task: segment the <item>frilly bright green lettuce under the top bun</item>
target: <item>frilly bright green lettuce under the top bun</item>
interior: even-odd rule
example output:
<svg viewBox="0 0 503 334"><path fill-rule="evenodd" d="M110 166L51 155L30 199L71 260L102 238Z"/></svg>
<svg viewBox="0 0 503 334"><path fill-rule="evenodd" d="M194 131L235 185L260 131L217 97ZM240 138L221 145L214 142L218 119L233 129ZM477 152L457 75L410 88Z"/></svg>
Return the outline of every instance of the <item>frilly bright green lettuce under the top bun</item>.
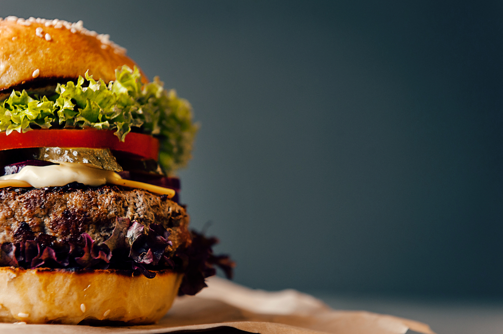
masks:
<svg viewBox="0 0 503 334"><path fill-rule="evenodd" d="M160 141L159 162L167 171L187 165L197 126L190 103L166 91L157 77L141 84L138 68L123 66L108 85L86 73L76 84L59 84L54 94L13 91L0 104L0 131L95 128L115 131L124 141L132 127Z"/></svg>

